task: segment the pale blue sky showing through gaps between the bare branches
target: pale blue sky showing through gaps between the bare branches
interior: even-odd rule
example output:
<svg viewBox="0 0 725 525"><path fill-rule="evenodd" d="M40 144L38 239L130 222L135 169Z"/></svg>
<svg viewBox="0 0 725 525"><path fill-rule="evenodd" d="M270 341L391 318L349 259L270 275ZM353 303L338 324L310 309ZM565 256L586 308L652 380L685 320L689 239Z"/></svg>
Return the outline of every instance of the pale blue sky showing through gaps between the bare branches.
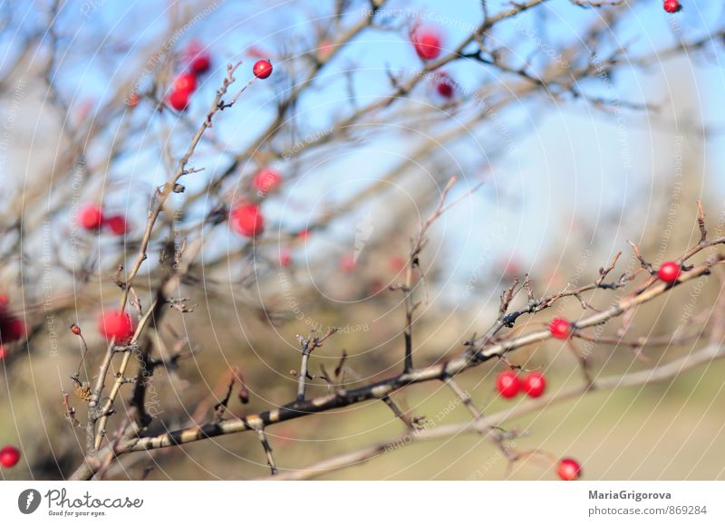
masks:
<svg viewBox="0 0 725 525"><path fill-rule="evenodd" d="M497 6L505 3L489 4L495 11ZM662 12L658 1L637 2L629 21L617 29L619 41L627 43L633 54L646 54L671 45L678 34L684 34L686 40L695 39L717 24L720 15L718 3L683 4L683 12L673 17ZM164 29L164 10L168 7L164 2L107 2L99 4L86 18L78 15L84 5L88 4L77 2L67 5L59 24L68 35L66 42L69 43L69 52L63 55L63 62L59 64L63 72L69 74L63 75L60 85L76 106L82 100L99 100L108 96L112 82L129 78L134 71L129 62L110 61L107 49L124 43L128 46L129 57L138 54L151 35ZM216 69L206 77L195 95L189 117L199 119L203 114L207 100L210 100L223 76L226 62L246 58L244 53L252 46L275 52L290 39L311 43L311 21L324 20L331 5L332 2L305 1L219 3L218 9L195 24L177 45L177 49L181 49L189 38L198 38L208 44L215 57ZM352 10L359 12L364 5L367 4L360 3ZM444 42L450 47L459 43L469 27L478 24L481 18L480 7L474 0L392 2L389 8L400 8L405 13L417 11L423 21L440 27L445 36ZM349 15L348 21L354 15L356 13ZM553 0L530 14L522 15L522 25L518 29L513 24L503 25L495 33L495 41L517 52L513 56L523 60L536 48L536 44L532 38L522 37L520 27L527 28L529 37L534 35L554 47L558 43L575 41L575 35L582 31L585 23L596 16L598 13L594 10L575 7L566 0ZM24 24L30 24L32 18L33 15L30 15ZM406 22L406 16L396 18L392 12L389 18L401 24ZM3 46L7 51L12 44L5 41ZM74 52L94 46L97 53L91 60L81 52ZM299 44L298 47L304 48L304 45ZM606 51L605 48L599 50L600 53ZM672 127L681 126L685 117L695 125L702 120L710 126L721 126L725 115L720 110L723 85L720 54L710 54L709 60L697 62L657 62L644 72L625 68L614 77L611 85L594 80L586 82L582 89L591 96L614 97L623 102L662 102L665 104L663 119L669 119ZM131 58L127 60L131 61ZM246 60L247 69L250 69L252 61ZM405 75L419 66L410 43L401 33L363 33L336 57L317 81L314 90L301 100L298 109L298 123L303 129L301 134L304 136L308 132L324 130L333 119L349 110L343 75L345 70L355 69L354 90L360 102L364 103L390 91L386 70ZM245 67L242 66L237 75L240 82L245 81L248 74ZM257 82L233 110L220 115L214 132L227 142L231 151L243 148L272 119L275 82L282 81L285 68L290 64L275 63L275 67L276 76L273 75L266 83ZM464 91L474 90L485 81L497 81L500 76L496 70L473 62L457 62L447 71ZM668 84L665 79L671 83ZM679 111L675 118L672 107L668 107L667 103L671 99L669 91L682 91L678 85L684 86L686 92L680 92L676 99L672 99ZM430 104L425 91L414 94L413 98ZM587 217L586 222L591 223L587 227L594 228L595 234L601 232L605 236L597 240L597 243L604 243L604 250L609 245L612 252L623 248L621 243L636 230L633 227L636 224L624 220L622 227L613 235L611 230L601 228L604 217L621 217L631 213L625 210L632 209L633 205L648 205L653 186L670 180L672 158L669 158L668 151L672 149L672 134L676 131L658 129L661 125L657 119L642 112L622 110L621 116L626 123L624 129L618 124L616 116L594 110L581 101L557 104L544 99L527 101L514 105L501 116L510 129L517 133L521 131L516 136L515 151L492 161L487 186L478 196L452 210L446 221L439 225L440 233L445 234L447 239L445 256L461 275L473 271L477 254L491 243L491 232L498 224L507 224L508 234L505 240L496 241L496 256L516 254L525 269L551 256L548 247L552 245L552 236L560 240L574 238L574 231L581 227L578 221L575 224L578 216ZM134 184L160 183L168 177L168 167L160 162L158 148L146 147L158 137L158 123L173 123L174 119L171 115L149 119L148 108L146 113L133 118L149 120L146 146L138 156L128 158L109 174L114 179L129 183L125 194L125 205L129 207L138 204L139 193L134 191ZM109 133L112 131L109 130ZM476 156L486 158L489 153L493 155L495 151L489 152L488 144L497 149L499 138L496 129L488 127L477 137L478 143L464 139L452 145L446 153L450 166L461 172L465 182L478 182L481 163ZM350 195L355 188L371 184L381 177L386 167L404 156L410 148L408 140L382 135L380 141L373 140L364 148L316 166L295 186L288 187L287 192L294 192L297 200L311 202L317 201L321 195L331 199ZM176 150L180 151L188 143L188 133L175 127L173 141L178 146ZM711 138L702 159L706 162L710 186L719 192L723 189L721 166L725 160L721 141L721 135ZM225 156L200 155L195 164L204 165L206 174L211 174L223 170L227 162ZM284 164L280 167L285 169ZM255 169L256 165L247 167L250 171ZM193 190L201 187L203 181L203 177L187 177L186 184L189 190ZM465 188L466 184L461 184L456 191L460 193ZM287 196L289 193L283 192L276 203L266 205L270 215L274 215L275 210L280 215L270 216L270 220L298 227L314 210L290 214L285 208L283 212ZM362 209L360 213L367 211ZM281 216L283 214L285 216ZM353 216L351 221L354 220ZM341 246L352 244L353 233L353 227L337 228L333 242ZM229 242L236 241L232 239Z"/></svg>

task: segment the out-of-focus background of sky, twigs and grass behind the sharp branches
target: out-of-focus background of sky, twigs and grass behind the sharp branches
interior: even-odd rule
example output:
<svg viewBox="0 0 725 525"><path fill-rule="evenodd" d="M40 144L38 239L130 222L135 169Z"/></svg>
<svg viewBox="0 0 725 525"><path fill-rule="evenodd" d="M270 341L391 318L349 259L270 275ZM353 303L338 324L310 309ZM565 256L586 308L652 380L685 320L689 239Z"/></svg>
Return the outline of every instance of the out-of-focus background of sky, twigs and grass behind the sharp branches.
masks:
<svg viewBox="0 0 725 525"><path fill-rule="evenodd" d="M115 282L136 258L155 189L189 148L228 63L242 62L230 94L251 82L199 142L190 166L200 171L184 176L183 193L165 205L134 282L132 297L148 307L168 265L160 254L203 241L178 301L149 336L158 358L184 352L150 382L153 433L213 419L232 367L250 401L233 396L227 416L291 401L296 336L313 329L340 331L314 350L311 374L334 369L343 352L347 387L399 372L405 310L403 294L390 287L402 282L411 239L453 175L449 199L465 198L433 224L415 276L419 367L459 355L496 320L501 292L525 274L543 297L593 282L620 250L614 277L637 268L627 241L655 266L677 258L700 239L698 199L710 235L723 234L720 3L683 1L668 14L655 0L599 8L551 0L515 15L504 15L511 3L483 4L399 0L381 3L374 16L377 4L355 0L0 4L0 293L26 327L24 338L3 341L0 444L22 452L13 470L0 469L3 479L60 479L82 462L83 428L69 425L63 408L82 356L69 327L77 323L88 343L80 378L91 381L106 348L99 312L118 305ZM485 14L500 20L477 33ZM420 28L440 38L440 66L416 53L411 34ZM169 93L190 49L211 65L189 109L175 111ZM259 59L274 72L252 81ZM265 168L282 183L260 193L254 177ZM264 234L249 239L227 226L228 208L240 201L258 203ZM85 231L79 213L88 205L122 215L128 228ZM691 338L643 355L596 345L594 377L699 348L720 291L716 273L637 311L627 327L630 339ZM596 291L592 304L613 299ZM582 315L571 298L522 317L514 330ZM552 394L582 382L561 341L510 359L545 371ZM494 377L504 368L488 362L459 379L485 414L519 402L496 394ZM517 448L575 456L587 479L723 479L723 374L725 364L713 362L656 385L547 406L507 428L521 434ZM111 429L131 390L121 390ZM308 392L328 387L317 378ZM454 396L437 383L395 399L433 426L469 419L462 406L449 407ZM84 422L84 402L72 402ZM370 402L267 433L285 470L404 430L387 406ZM107 477L267 473L257 436L243 433L131 454ZM467 434L401 446L322 477L556 473L542 455L508 468L496 446Z"/></svg>

